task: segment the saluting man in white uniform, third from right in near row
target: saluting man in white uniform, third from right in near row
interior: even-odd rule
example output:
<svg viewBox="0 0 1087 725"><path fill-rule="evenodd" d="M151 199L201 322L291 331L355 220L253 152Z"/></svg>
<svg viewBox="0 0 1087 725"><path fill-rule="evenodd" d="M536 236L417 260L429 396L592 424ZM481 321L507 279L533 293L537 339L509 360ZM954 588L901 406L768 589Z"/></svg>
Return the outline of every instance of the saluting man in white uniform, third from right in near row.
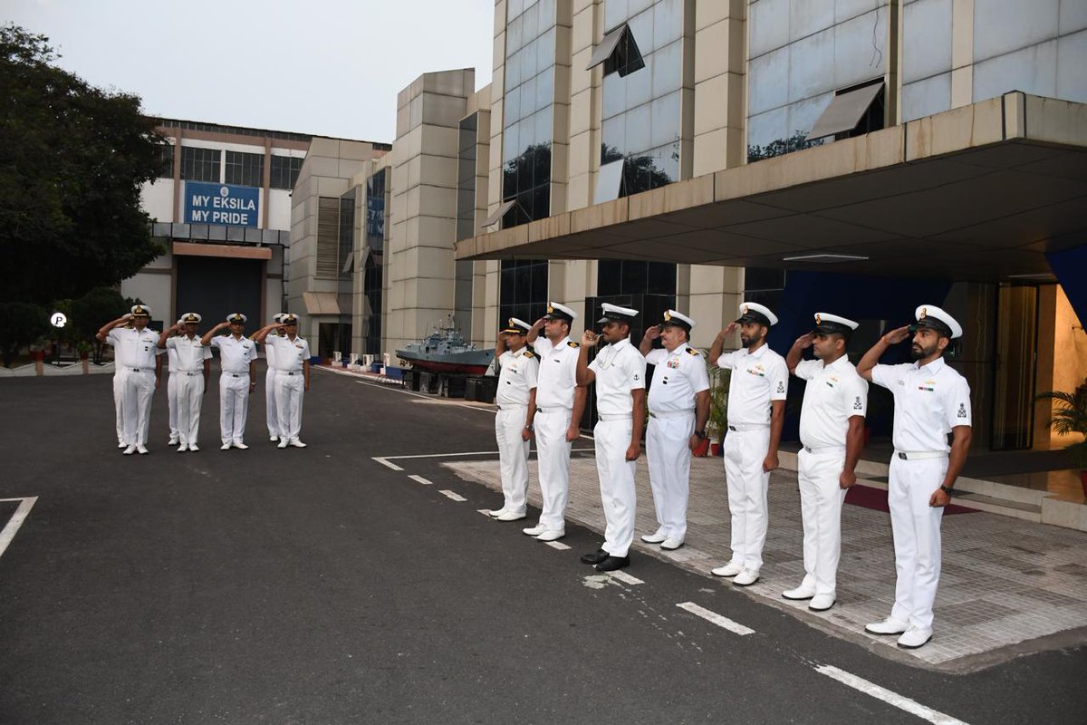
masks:
<svg viewBox="0 0 1087 725"><path fill-rule="evenodd" d="M747 587L759 580L766 543L766 489L777 467L777 446L785 422L789 368L770 349L766 335L777 324L769 308L740 304L740 316L717 333L710 360L732 371L728 380L728 433L725 435L725 478L732 514L732 560L713 570ZM740 328L739 350L722 353L725 339Z"/></svg>

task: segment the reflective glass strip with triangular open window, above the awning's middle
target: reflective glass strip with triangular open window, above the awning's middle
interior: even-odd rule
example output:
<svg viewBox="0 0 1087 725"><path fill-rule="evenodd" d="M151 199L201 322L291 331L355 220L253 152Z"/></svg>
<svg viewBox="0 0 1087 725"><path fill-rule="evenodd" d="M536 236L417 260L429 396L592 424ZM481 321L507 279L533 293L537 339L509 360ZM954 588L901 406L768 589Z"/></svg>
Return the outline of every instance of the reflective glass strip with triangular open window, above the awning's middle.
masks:
<svg viewBox="0 0 1087 725"><path fill-rule="evenodd" d="M604 3L605 29L628 27L632 70L621 74L605 67L600 163L626 159L622 188L627 195L679 179L683 10L683 0Z"/></svg>

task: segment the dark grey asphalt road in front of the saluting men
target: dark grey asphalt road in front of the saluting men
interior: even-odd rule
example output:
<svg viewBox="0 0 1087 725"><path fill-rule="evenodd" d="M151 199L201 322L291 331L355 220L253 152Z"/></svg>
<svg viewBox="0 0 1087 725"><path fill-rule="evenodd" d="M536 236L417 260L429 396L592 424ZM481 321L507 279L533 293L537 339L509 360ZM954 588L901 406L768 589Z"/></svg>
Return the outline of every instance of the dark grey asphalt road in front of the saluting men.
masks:
<svg viewBox="0 0 1087 725"><path fill-rule="evenodd" d="M825 666L975 725L1087 720L1083 648L948 675L637 553L641 584L595 576L592 532L557 550L440 457L373 460L493 451L491 413L317 372L278 450L260 379L249 450L213 384L202 450L166 447L160 390L142 457L109 376L0 380L0 499L38 497L0 555L0 723L925 722Z"/></svg>

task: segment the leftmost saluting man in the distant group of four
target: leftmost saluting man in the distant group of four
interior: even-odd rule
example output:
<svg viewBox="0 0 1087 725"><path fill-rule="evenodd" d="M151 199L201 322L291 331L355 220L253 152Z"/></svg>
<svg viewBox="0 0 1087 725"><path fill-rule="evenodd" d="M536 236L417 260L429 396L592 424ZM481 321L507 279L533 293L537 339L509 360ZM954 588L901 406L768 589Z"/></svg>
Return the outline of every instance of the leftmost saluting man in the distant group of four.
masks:
<svg viewBox="0 0 1087 725"><path fill-rule="evenodd" d="M122 388L125 418L124 454L147 454L147 433L151 423L151 397L162 378L159 334L147 328L151 308L134 304L132 312L107 323L96 336L99 342L113 346L116 365L126 368ZM123 327L132 323L132 327Z"/></svg>

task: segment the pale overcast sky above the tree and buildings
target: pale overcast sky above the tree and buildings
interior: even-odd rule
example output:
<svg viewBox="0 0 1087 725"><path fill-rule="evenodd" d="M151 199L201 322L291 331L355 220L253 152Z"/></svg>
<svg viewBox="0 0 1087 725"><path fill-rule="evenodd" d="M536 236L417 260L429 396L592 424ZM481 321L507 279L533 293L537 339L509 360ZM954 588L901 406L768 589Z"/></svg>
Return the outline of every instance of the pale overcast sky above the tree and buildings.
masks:
<svg viewBox="0 0 1087 725"><path fill-rule="evenodd" d="M490 83L493 0L3 0L59 63L147 113L392 141L423 73Z"/></svg>

